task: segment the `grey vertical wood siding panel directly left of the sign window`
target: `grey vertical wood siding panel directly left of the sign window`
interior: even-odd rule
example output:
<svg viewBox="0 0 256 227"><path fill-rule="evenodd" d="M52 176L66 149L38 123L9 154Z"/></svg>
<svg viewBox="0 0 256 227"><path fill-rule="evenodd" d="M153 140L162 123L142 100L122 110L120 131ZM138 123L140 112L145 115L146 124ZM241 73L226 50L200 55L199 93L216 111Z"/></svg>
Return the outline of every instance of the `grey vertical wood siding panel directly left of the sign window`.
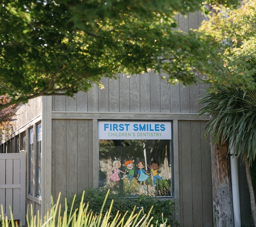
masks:
<svg viewBox="0 0 256 227"><path fill-rule="evenodd" d="M98 186L98 171L95 171L99 169L98 146L95 147L93 124L93 120L52 120L54 200L59 192L66 197L81 189Z"/></svg>

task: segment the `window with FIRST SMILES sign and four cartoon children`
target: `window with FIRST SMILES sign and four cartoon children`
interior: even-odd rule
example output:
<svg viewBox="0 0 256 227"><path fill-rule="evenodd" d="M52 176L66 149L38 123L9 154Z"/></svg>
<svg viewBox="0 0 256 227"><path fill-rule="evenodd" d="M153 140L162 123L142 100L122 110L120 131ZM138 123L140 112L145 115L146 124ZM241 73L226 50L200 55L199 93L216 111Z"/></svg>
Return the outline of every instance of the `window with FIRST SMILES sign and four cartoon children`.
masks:
<svg viewBox="0 0 256 227"><path fill-rule="evenodd" d="M172 196L171 122L99 122L99 185Z"/></svg>

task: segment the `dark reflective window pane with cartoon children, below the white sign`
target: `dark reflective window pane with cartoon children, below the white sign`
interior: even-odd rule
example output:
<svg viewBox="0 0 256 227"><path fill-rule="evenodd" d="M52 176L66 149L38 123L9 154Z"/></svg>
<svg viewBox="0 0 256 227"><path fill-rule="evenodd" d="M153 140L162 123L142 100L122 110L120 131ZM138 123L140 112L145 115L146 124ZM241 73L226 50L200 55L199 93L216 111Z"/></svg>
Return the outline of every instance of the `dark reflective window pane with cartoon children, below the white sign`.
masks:
<svg viewBox="0 0 256 227"><path fill-rule="evenodd" d="M172 196L171 140L99 140L100 187Z"/></svg>

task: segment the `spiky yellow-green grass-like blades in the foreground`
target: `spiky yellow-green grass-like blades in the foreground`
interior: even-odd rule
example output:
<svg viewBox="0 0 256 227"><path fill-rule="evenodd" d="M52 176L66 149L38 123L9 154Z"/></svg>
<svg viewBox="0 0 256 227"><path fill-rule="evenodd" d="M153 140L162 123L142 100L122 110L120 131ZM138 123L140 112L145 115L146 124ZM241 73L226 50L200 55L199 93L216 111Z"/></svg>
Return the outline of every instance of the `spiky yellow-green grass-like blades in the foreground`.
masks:
<svg viewBox="0 0 256 227"><path fill-rule="evenodd" d="M90 193L93 193L93 190L90 191ZM96 200L99 200L102 198L102 193L104 191L99 191L98 196L96 197ZM84 196L85 191L80 196L80 202L78 202L78 198L74 196L72 199L72 203L68 204L67 200L65 199L65 207L63 208L64 211L61 214L61 205L59 204L60 195L58 197L58 200L56 204L54 205L52 202L52 208L49 210L44 217L43 221L39 218L39 214L37 216L33 216L33 209L31 207L31 212L27 211L27 227L149 227L149 226L157 226L158 221L161 223L161 227L166 227L167 222L163 221L162 219L159 219L158 221L153 222L153 217L150 217L150 212L153 208L149 210L147 214L144 214L143 210L140 209L139 212L135 212L136 209L134 208L132 211L125 212L124 214L120 214L119 211L116 213L113 208L113 200L110 202L109 207L106 207L107 203L107 197L109 194L109 190L105 194L105 197L103 198L103 201L101 201L100 204L100 211L98 214L95 214L92 210L89 210L89 204L84 203ZM92 194L91 194L92 195ZM113 194L112 194L113 195ZM88 195L87 195L88 196ZM87 197L86 196L86 197ZM111 196L110 196L111 197ZM2 206L2 205L1 205ZM103 215L103 210L107 209L108 211L105 212L105 215ZM3 212L3 206L1 209L1 222L3 227L18 227L17 222L15 223L12 218L8 220L7 216L4 216ZM168 226L169 227L169 226Z"/></svg>

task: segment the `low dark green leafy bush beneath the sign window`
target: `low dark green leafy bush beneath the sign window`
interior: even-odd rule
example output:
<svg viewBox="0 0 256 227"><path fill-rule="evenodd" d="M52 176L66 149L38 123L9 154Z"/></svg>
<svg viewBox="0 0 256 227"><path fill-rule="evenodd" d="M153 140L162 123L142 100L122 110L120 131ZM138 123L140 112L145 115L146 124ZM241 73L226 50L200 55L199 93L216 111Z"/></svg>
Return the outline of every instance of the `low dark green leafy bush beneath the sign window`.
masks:
<svg viewBox="0 0 256 227"><path fill-rule="evenodd" d="M102 203L106 197L107 191L109 188L102 187L99 189L85 189L84 194L84 203L88 203L89 210L92 210L95 214L99 214L101 210ZM78 194L75 198L73 210L79 207L81 201L82 193ZM110 203L113 202L112 213L124 215L128 211L128 215L132 213L134 210L135 214L139 214L141 211L141 217L143 214L148 214L151 207L151 215L154 217L151 223L156 224L157 221L167 221L167 224L170 226L179 226L178 222L174 220L174 209L175 203L170 200L158 200L154 197L148 196L135 196L133 191L122 191L122 190L114 190L111 188L109 191L109 195L106 200L105 208L102 211L102 214L106 214ZM71 203L73 202L72 198L70 198L67 202L68 212L71 211ZM110 216L110 221L112 221L114 216ZM128 216L124 218L126 221ZM160 223L157 224L160 226Z"/></svg>

